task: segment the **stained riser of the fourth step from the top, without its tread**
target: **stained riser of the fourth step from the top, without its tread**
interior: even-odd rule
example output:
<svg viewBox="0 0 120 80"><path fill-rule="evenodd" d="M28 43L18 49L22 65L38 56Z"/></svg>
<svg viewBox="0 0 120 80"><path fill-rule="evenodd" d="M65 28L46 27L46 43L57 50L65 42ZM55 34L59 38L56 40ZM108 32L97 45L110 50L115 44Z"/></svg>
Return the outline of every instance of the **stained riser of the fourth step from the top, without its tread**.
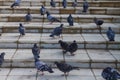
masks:
<svg viewBox="0 0 120 80"><path fill-rule="evenodd" d="M116 34L120 33L119 29L114 29ZM52 29L40 29L40 28L36 28L36 29L30 29L30 28L26 28L26 34L27 33L51 33L53 32L53 28ZM0 33L18 33L18 29L14 28L3 28L2 30L0 30ZM63 33L65 34L82 34L82 33L95 33L95 34L99 34L99 29L80 29L80 28L76 28L76 29L64 29ZM101 30L101 33L106 33L106 30Z"/></svg>

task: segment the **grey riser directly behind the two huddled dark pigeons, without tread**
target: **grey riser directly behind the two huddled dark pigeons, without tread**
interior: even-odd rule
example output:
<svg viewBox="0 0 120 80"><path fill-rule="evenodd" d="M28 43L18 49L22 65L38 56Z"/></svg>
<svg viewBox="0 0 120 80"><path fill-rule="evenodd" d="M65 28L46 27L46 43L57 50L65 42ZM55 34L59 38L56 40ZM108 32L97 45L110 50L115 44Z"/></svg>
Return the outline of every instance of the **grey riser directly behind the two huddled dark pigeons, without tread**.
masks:
<svg viewBox="0 0 120 80"><path fill-rule="evenodd" d="M33 44L36 42L31 43L0 43L1 49L31 49L33 47ZM61 49L60 45L58 43L45 43L42 42L40 44L41 49ZM94 42L81 42L78 43L79 49L120 49L120 43L94 43Z"/></svg>

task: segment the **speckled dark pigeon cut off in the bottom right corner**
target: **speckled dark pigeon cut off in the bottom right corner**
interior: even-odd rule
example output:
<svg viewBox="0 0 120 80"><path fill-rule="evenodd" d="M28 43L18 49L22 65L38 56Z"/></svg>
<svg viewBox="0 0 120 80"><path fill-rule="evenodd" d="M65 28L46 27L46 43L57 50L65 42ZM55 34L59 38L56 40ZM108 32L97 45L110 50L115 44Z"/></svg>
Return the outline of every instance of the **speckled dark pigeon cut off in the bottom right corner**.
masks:
<svg viewBox="0 0 120 80"><path fill-rule="evenodd" d="M120 79L120 73L112 67L106 67L102 71L101 76L106 80L118 80L118 79Z"/></svg>

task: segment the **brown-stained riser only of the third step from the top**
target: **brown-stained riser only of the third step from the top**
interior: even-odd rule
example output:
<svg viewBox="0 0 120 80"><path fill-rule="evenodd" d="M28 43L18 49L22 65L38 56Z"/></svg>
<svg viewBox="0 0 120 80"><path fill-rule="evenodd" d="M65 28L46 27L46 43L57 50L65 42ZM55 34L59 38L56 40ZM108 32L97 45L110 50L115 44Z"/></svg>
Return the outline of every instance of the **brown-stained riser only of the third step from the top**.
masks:
<svg viewBox="0 0 120 80"><path fill-rule="evenodd" d="M67 22L67 17L58 17L58 19L61 21L61 22ZM85 17L85 18L78 18L78 17L75 17L74 18L74 22L76 23L93 23L93 19L94 17L90 18L90 17ZM120 23L120 18L101 18L104 20L105 23ZM24 22L25 21L25 18L24 16L21 17L21 16L18 16L18 17L2 17L0 19L1 22ZM46 18L35 18L33 17L32 19L32 22L49 22Z"/></svg>

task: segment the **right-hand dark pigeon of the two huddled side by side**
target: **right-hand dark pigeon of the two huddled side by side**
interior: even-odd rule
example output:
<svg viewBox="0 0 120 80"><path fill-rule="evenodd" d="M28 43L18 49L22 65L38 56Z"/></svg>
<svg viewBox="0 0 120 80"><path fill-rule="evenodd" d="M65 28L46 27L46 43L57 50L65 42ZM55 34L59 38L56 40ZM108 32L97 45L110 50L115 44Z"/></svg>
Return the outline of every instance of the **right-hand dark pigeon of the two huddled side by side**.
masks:
<svg viewBox="0 0 120 80"><path fill-rule="evenodd" d="M73 43L71 43L71 44L68 46L67 50L66 50L64 53L70 52L70 54L71 54L72 56L74 56L74 55L75 55L74 52L77 51L77 49L78 49L78 45L77 45L76 41L74 40Z"/></svg>

